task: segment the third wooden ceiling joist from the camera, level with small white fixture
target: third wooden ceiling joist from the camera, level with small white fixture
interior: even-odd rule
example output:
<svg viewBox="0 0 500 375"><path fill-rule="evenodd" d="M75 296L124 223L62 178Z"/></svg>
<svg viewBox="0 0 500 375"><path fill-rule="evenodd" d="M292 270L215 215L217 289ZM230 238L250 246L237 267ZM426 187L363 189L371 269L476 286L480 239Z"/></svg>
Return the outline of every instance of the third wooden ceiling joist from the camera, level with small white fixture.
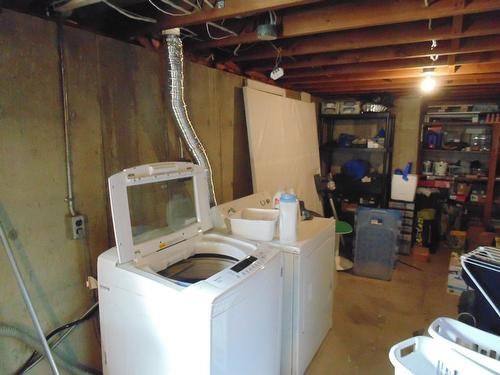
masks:
<svg viewBox="0 0 500 375"><path fill-rule="evenodd" d="M358 50L341 51L309 55L295 60L285 59L280 66L286 70L297 68L313 68L325 65L356 64L361 62L400 60L416 57L428 57L433 54L440 56L456 55L461 53L476 53L500 50L500 35L480 36L464 39L459 48L453 47L453 40L443 40L430 51L430 42L403 44L390 47L374 47ZM256 62L251 64L256 71L270 71L274 68L274 60Z"/></svg>

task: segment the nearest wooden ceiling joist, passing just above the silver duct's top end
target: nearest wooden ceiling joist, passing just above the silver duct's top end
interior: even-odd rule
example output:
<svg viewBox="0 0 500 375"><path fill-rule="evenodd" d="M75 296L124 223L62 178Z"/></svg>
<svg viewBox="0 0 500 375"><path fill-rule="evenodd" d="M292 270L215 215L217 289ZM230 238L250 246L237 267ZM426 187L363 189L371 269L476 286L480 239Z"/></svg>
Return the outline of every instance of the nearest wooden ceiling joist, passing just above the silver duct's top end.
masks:
<svg viewBox="0 0 500 375"><path fill-rule="evenodd" d="M195 25L205 22L214 22L226 18L234 18L237 16L248 16L256 13L267 12L268 10L278 10L288 7L295 7L300 5L308 5L317 3L320 0L228 0L225 2L224 8L210 8L203 7L199 11L180 17L172 17L160 14L159 12L151 11L151 14L156 18L156 24L144 27L144 25L137 26L128 30L128 34L144 35L147 33L158 34L162 30L172 29L175 27ZM154 13L153 13L154 12Z"/></svg>

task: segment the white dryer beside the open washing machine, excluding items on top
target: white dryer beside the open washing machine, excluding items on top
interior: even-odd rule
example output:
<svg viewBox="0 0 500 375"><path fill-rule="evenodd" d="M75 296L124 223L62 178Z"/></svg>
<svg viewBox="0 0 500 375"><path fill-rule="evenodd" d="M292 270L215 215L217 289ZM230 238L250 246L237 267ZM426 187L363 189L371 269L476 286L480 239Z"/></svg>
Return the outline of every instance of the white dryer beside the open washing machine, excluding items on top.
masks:
<svg viewBox="0 0 500 375"><path fill-rule="evenodd" d="M217 206L215 225L223 230L226 218L244 208L272 208L271 196L257 193ZM332 326L335 221L299 221L297 242L269 244L284 255L281 374L301 375Z"/></svg>

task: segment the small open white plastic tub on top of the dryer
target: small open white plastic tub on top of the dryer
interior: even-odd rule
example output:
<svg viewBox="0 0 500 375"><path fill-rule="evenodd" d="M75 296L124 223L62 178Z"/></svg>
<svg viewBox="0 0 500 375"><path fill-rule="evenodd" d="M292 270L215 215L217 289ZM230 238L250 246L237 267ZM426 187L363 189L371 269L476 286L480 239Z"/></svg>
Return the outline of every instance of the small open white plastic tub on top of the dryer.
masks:
<svg viewBox="0 0 500 375"><path fill-rule="evenodd" d="M272 241L279 211L245 208L229 217L231 232L254 241Z"/></svg>

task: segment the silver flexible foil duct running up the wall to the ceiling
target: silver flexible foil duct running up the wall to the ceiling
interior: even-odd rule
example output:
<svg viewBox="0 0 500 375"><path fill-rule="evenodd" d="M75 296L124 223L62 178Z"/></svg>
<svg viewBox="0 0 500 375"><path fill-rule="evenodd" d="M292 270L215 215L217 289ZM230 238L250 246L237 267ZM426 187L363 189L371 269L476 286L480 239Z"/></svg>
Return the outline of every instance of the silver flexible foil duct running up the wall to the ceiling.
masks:
<svg viewBox="0 0 500 375"><path fill-rule="evenodd" d="M165 30L162 35L167 48L168 88L170 91L170 106L172 108L173 117L177 124L177 129L186 143L194 162L204 167L208 172L210 207L213 207L217 205L217 200L215 198L212 167L208 161L205 148L191 124L191 120L187 113L186 103L184 102L182 40L178 33L175 31L172 32L172 30Z"/></svg>

